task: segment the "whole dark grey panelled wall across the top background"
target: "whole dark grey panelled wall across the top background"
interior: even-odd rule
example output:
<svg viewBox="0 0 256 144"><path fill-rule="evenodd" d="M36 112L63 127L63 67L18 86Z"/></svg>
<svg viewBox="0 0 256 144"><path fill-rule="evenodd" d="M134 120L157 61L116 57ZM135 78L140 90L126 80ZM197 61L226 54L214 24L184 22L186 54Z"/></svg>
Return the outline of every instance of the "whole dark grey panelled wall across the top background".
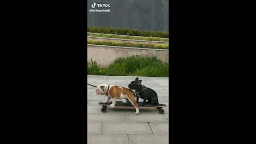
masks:
<svg viewBox="0 0 256 144"><path fill-rule="evenodd" d="M91 7L93 3L110 7ZM90 12L109 9L110 12ZM87 26L169 31L169 0L88 0Z"/></svg>

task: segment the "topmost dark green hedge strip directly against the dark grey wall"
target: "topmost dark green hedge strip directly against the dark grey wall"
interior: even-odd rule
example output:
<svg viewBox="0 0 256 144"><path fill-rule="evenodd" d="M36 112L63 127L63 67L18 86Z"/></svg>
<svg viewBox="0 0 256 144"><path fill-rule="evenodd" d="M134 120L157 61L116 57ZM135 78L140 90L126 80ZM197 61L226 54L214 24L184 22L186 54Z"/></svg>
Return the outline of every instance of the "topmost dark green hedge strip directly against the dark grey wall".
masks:
<svg viewBox="0 0 256 144"><path fill-rule="evenodd" d="M163 31L136 30L136 29L128 29L128 28L87 27L87 32L102 33L102 34L146 36L146 37L151 36L151 37L169 38L169 33L166 33Z"/></svg>

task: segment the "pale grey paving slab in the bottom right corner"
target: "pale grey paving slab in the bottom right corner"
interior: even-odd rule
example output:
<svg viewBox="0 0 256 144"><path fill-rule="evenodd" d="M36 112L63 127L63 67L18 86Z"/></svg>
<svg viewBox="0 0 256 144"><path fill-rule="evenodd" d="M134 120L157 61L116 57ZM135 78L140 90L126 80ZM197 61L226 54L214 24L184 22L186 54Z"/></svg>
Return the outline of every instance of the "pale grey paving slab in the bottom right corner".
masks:
<svg viewBox="0 0 256 144"><path fill-rule="evenodd" d="M129 134L129 144L169 144L169 134Z"/></svg>

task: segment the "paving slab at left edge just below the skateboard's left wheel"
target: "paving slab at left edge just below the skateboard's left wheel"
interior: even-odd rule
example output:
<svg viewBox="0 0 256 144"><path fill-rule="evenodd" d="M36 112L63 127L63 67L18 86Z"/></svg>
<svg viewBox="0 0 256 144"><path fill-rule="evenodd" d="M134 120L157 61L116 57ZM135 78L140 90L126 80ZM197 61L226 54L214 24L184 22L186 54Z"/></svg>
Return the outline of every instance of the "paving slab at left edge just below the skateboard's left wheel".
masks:
<svg viewBox="0 0 256 144"><path fill-rule="evenodd" d="M134 111L135 115L135 111ZM125 122L124 115L110 113L87 114L87 122Z"/></svg>

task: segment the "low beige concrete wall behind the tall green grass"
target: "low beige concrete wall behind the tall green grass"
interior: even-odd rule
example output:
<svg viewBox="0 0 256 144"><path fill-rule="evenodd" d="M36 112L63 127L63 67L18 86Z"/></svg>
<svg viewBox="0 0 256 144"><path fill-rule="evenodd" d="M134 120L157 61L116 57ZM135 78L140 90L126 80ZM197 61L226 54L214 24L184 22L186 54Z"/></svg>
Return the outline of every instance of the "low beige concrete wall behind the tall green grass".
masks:
<svg viewBox="0 0 256 144"><path fill-rule="evenodd" d="M101 68L107 68L115 59L132 55L152 56L169 63L169 50L143 49L118 46L100 46L87 44L87 61L96 61Z"/></svg>

